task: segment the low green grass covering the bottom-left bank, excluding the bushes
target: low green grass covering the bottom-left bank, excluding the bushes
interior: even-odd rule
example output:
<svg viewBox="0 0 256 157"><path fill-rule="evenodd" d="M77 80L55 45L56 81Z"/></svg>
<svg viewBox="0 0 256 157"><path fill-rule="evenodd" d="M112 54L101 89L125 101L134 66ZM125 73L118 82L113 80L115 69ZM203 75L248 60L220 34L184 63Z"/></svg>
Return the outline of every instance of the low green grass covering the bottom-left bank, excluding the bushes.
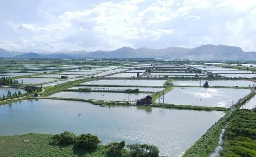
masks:
<svg viewBox="0 0 256 157"><path fill-rule="evenodd" d="M96 151L88 152L73 149L73 145L52 143L49 134L24 134L18 136L0 136L0 157L107 157L104 145ZM29 140L24 142L24 140ZM129 156L123 151L122 157Z"/></svg>

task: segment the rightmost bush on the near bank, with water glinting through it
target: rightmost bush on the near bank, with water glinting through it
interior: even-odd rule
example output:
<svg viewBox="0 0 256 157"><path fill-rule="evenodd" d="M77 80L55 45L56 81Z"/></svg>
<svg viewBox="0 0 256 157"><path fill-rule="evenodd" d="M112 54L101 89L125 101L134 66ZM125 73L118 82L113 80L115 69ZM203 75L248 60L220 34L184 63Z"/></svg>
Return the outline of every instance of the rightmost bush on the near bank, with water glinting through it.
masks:
<svg viewBox="0 0 256 157"><path fill-rule="evenodd" d="M159 149L154 145L132 144L127 145L133 157L159 157Z"/></svg>

